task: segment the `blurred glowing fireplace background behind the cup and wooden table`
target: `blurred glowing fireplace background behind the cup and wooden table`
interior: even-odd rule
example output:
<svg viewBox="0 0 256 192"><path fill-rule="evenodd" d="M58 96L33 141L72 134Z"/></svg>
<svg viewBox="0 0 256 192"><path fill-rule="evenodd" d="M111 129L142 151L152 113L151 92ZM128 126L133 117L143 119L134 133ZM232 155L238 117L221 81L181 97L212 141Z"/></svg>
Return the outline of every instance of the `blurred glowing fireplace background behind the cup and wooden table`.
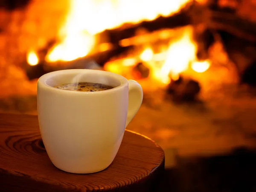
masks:
<svg viewBox="0 0 256 192"><path fill-rule="evenodd" d="M0 112L37 114L36 82L51 71L118 73L143 87L128 129L164 149L168 174L179 173L168 179L186 183L172 186L256 191L255 9L255 0L0 0Z"/></svg>

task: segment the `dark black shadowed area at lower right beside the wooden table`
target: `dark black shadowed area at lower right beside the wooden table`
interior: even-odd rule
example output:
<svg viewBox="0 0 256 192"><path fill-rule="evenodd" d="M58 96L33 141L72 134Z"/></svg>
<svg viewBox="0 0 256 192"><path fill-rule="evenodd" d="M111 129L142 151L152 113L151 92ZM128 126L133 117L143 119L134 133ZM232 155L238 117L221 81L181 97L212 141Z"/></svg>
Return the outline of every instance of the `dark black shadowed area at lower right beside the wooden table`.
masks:
<svg viewBox="0 0 256 192"><path fill-rule="evenodd" d="M256 150L240 150L215 157L179 157L166 169L157 192L255 192Z"/></svg>

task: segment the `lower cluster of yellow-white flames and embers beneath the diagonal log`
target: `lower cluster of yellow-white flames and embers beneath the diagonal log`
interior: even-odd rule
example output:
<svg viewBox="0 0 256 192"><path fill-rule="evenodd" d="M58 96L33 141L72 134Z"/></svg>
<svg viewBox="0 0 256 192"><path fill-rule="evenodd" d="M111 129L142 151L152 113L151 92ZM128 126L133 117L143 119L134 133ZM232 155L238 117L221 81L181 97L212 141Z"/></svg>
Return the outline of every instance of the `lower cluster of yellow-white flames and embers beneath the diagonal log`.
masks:
<svg viewBox="0 0 256 192"><path fill-rule="evenodd" d="M150 69L148 78L160 81L162 84L168 84L171 79L178 79L180 73L189 69L189 64L195 72L206 71L210 67L210 61L197 61L197 46L193 41L192 26L184 27L183 32L179 30L177 33L180 36L170 41L169 47L163 52L154 53L151 47L147 47L129 65L124 64L126 59L110 61L105 64L105 70L126 75L129 70L125 67L134 67L141 61Z"/></svg>

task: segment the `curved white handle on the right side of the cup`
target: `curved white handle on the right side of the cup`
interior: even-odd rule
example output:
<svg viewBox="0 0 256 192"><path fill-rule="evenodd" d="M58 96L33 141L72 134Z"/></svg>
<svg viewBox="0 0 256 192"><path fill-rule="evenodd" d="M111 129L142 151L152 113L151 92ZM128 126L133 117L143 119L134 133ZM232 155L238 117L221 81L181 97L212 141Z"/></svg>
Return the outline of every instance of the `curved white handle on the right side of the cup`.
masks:
<svg viewBox="0 0 256 192"><path fill-rule="evenodd" d="M128 96L128 113L125 127L131 122L136 113L140 109L143 100L143 90L140 84L134 80L128 80L129 96Z"/></svg>

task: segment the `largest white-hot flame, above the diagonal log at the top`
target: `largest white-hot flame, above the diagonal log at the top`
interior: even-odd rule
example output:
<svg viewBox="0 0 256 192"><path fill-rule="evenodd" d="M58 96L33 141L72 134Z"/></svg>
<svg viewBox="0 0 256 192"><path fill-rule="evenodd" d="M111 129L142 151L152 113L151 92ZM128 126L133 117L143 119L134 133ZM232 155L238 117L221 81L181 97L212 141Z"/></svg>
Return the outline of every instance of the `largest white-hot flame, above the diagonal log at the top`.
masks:
<svg viewBox="0 0 256 192"><path fill-rule="evenodd" d="M139 23L169 16L191 0L70 0L70 12L48 62L71 61L86 56L94 46L96 33L124 23ZM145 9L146 6L146 9Z"/></svg>

